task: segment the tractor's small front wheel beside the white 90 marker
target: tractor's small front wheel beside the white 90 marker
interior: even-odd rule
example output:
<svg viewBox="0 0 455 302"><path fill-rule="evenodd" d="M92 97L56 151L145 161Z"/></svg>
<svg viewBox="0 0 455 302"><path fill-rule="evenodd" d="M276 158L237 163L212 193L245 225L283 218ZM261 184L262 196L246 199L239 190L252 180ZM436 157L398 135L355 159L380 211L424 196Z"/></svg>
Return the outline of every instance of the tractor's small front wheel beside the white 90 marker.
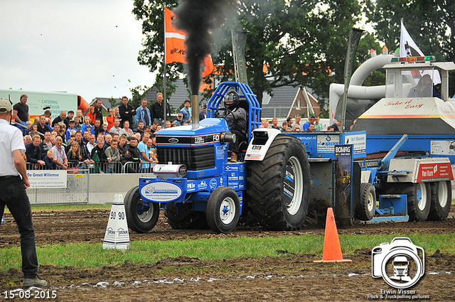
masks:
<svg viewBox="0 0 455 302"><path fill-rule="evenodd" d="M148 210L144 208L144 200L139 193L139 185L128 191L124 199L125 214L129 229L138 233L152 230L159 218L159 204L149 203Z"/></svg>

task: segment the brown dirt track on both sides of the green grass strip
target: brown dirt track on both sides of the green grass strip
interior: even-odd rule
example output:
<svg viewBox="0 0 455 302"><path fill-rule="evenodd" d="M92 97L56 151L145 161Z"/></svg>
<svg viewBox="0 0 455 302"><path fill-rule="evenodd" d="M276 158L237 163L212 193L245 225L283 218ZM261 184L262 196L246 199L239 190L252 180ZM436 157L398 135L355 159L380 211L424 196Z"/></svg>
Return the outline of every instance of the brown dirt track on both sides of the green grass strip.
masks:
<svg viewBox="0 0 455 302"><path fill-rule="evenodd" d="M454 207L452 207L452 212ZM453 213L451 213L453 216ZM33 215L37 245L68 242L102 242L109 211L41 212ZM452 217L451 216L451 217ZM0 227L0 247L18 246L17 227L6 215ZM321 234L321 219L294 232L264 232L240 225L232 234L210 230L172 230L161 215L158 225L147 234L130 233L134 240L198 239L208 237L267 237ZM338 228L340 234L444 234L455 232L455 219L444 222L382 223ZM156 264L124 263L122 266L75 269L43 265L40 274L50 282L58 301L365 301L367 295L391 290L382 279L371 276L368 250L350 254L350 264L314 264L314 255L201 261L188 257L163 259ZM423 279L412 288L429 295L430 301L453 299L455 255L427 255ZM202 273L168 275L167 266L195 266ZM451 274L446 273L450 271ZM429 274L437 273L437 274ZM350 275L355 274L355 275ZM21 271L0 273L1 291L18 288ZM12 281L12 284L9 283ZM106 281L107 284L99 284ZM4 298L4 297L0 297ZM414 300L415 301L415 300Z"/></svg>

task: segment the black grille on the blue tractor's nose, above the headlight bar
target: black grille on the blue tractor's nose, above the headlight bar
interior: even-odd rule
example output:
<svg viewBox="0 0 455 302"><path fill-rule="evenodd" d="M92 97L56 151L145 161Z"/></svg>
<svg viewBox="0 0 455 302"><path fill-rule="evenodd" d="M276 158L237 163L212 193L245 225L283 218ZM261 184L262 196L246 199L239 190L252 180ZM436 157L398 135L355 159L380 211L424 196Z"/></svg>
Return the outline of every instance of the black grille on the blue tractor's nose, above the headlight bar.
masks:
<svg viewBox="0 0 455 302"><path fill-rule="evenodd" d="M157 148L159 163L184 164L188 171L215 168L215 149L213 145L193 148L163 147Z"/></svg>

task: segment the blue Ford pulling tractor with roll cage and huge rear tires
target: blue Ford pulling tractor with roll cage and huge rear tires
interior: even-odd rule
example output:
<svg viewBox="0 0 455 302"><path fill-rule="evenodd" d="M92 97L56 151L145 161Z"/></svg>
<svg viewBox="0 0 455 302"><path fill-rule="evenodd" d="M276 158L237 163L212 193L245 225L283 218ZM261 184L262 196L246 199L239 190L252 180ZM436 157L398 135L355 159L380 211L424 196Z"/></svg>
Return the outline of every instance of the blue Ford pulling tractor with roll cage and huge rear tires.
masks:
<svg viewBox="0 0 455 302"><path fill-rule="evenodd" d="M229 144L236 138L223 117L224 96L234 90L247 112L247 143L240 161L230 163ZM192 97L193 124L156 133L159 163L155 178L140 178L124 198L128 226L149 232L164 209L174 229L210 227L228 233L240 215L250 212L267 230L298 230L309 206L309 163L301 140L276 129L260 129L260 107L248 85L223 82L208 102L208 118L198 121Z"/></svg>

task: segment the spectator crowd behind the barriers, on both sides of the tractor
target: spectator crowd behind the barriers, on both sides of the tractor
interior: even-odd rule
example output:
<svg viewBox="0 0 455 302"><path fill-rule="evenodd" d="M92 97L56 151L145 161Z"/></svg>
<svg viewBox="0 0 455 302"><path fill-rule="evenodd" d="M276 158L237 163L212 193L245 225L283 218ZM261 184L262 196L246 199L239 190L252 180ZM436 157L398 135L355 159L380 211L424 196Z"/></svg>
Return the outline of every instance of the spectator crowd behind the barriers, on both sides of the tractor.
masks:
<svg viewBox="0 0 455 302"><path fill-rule="evenodd" d="M77 109L62 111L52 119L50 110L40 117L30 119L27 95L14 104L13 114L18 128L23 131L26 144L24 160L28 169L83 169L92 173L138 173L148 172L158 163L155 133L163 127L191 124L191 102L186 100L183 108L171 122L164 119L163 95L147 107L147 99L134 109L127 97L122 97L119 107L109 110L103 119L102 102L97 99L86 112ZM202 107L199 119L207 117ZM261 128L280 131L338 131L340 122L324 129L319 117L311 116L302 123L301 117L288 117L278 126L278 119L262 119Z"/></svg>

